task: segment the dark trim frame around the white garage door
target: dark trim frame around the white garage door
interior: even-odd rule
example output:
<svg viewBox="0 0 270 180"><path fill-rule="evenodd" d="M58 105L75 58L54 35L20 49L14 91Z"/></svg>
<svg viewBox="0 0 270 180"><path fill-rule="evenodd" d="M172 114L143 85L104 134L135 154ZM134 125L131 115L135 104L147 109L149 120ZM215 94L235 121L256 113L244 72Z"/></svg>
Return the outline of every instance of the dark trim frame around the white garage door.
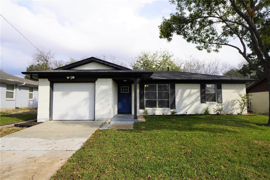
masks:
<svg viewBox="0 0 270 180"><path fill-rule="evenodd" d="M83 82L50 82L50 101L49 101L49 121L95 121L96 113L96 82L84 82L84 83L95 83L95 97L94 97L94 119L89 120L53 120L53 85L54 83L83 83Z"/></svg>

